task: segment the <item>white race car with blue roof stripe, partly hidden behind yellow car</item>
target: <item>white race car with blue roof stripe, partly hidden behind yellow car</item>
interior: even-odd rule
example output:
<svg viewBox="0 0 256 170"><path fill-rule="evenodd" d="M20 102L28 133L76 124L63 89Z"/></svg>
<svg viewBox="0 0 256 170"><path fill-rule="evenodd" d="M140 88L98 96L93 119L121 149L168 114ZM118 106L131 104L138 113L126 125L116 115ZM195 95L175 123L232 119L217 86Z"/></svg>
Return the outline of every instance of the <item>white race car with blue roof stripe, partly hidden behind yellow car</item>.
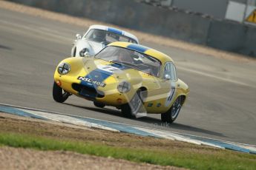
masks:
<svg viewBox="0 0 256 170"><path fill-rule="evenodd" d="M95 55L106 45L115 41L131 42L139 44L138 38L123 30L103 25L92 25L85 35L76 34L76 40L73 43L71 56L84 57L85 55Z"/></svg>

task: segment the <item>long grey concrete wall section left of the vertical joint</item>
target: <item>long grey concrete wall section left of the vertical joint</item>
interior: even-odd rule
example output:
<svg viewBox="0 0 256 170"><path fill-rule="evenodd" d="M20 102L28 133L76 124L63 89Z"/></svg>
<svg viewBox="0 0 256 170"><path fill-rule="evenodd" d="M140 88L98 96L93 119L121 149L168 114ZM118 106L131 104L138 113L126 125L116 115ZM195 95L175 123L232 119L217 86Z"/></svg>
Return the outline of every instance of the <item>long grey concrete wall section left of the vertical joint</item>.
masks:
<svg viewBox="0 0 256 170"><path fill-rule="evenodd" d="M131 0L10 0L147 33L206 44L209 19ZM99 6L100 5L100 6Z"/></svg>

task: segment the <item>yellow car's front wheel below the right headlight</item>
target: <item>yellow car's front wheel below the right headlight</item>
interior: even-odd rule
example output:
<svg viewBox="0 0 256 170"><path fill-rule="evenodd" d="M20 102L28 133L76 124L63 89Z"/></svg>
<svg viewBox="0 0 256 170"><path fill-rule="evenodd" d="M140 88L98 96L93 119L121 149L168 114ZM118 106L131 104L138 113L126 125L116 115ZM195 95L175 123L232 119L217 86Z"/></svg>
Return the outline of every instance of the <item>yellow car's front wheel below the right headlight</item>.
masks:
<svg viewBox="0 0 256 170"><path fill-rule="evenodd" d="M129 103L122 105L122 115L126 118L135 118L142 106L141 90L139 89Z"/></svg>

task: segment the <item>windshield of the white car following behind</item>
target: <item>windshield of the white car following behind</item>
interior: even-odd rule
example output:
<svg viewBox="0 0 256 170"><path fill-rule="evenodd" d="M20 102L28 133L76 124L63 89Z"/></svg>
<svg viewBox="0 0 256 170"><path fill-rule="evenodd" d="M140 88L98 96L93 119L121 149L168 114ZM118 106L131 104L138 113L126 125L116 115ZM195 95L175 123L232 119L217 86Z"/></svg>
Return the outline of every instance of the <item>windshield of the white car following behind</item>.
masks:
<svg viewBox="0 0 256 170"><path fill-rule="evenodd" d="M98 29L90 30L85 35L85 39L88 39L90 41L101 42L104 44L110 44L116 41L124 41L124 42L131 42L131 43L137 44L137 41L135 41L133 38L129 38L125 35L112 33L106 30L98 30Z"/></svg>

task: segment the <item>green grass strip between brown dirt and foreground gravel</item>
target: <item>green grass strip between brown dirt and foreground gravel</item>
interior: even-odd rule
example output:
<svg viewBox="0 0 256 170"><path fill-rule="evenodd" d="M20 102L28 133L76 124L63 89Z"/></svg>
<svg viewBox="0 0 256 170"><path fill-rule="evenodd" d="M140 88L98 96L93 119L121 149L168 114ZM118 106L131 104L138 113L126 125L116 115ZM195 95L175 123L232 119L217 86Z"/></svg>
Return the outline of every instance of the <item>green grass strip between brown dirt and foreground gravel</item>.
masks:
<svg viewBox="0 0 256 170"><path fill-rule="evenodd" d="M57 140L16 133L0 133L0 146L22 147L39 150L62 150L92 154L101 157L114 157L138 163L151 163L161 166L177 166L187 169L252 169L256 168L256 155L230 151L194 152L135 149L114 147L75 140Z"/></svg>

